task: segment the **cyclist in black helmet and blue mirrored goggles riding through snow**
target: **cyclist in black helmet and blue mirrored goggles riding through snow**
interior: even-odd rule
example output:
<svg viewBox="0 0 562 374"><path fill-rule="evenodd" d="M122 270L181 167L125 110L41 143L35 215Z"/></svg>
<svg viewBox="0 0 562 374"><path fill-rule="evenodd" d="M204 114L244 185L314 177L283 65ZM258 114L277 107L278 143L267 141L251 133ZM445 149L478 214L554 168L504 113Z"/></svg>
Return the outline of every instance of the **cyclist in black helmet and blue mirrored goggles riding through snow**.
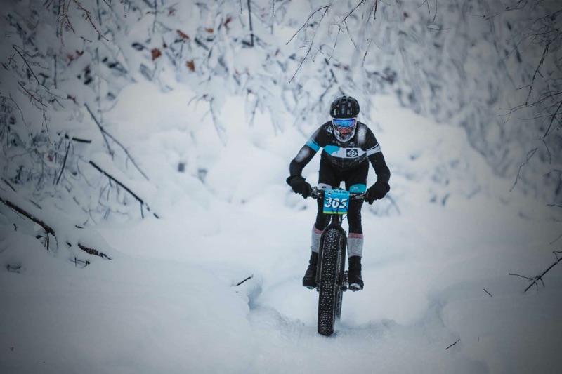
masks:
<svg viewBox="0 0 562 374"><path fill-rule="evenodd" d="M384 198L390 190L388 180L391 171L386 166L381 147L373 132L365 123L359 122L359 103L351 96L336 98L329 109L332 121L318 128L289 165L287 184L303 198L311 196L312 187L302 176L303 168L322 148L318 188L332 189L345 182L350 192L365 192L364 200L372 204ZM377 174L377 182L367 189L369 163ZM329 224L329 215L322 213L322 201L318 201L318 213L312 229L311 258L303 277L303 286L316 287L316 267L320 236ZM351 290L362 290L361 258L363 251L363 230L361 225L362 200L353 200L348 206L348 283Z"/></svg>

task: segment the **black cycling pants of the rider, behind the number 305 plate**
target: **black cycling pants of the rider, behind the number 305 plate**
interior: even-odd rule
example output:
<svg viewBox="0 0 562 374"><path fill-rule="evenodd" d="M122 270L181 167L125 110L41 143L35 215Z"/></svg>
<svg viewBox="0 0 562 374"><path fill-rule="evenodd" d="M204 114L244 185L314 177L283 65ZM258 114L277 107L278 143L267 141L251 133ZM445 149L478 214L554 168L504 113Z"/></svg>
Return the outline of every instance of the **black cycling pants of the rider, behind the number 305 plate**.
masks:
<svg viewBox="0 0 562 374"><path fill-rule="evenodd" d="M318 171L318 185L325 188L339 187L341 182L345 182L346 189L353 185L367 185L367 173L369 172L369 162L365 161L357 168L346 171L339 171L332 164L322 157L320 159L320 170ZM327 186L329 187L327 187ZM330 216L322 213L323 201L318 199L318 213L316 214L316 222L314 226L316 229L322 231L329 224ZM347 221L349 224L349 232L355 234L362 234L363 229L361 226L361 207L363 200L351 200L348 206Z"/></svg>

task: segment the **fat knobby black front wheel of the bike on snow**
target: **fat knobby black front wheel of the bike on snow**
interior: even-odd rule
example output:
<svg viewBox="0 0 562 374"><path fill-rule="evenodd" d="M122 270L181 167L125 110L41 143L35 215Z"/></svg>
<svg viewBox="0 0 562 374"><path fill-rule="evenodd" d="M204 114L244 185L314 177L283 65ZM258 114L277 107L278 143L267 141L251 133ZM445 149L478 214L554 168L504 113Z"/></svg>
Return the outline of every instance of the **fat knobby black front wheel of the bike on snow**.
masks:
<svg viewBox="0 0 562 374"><path fill-rule="evenodd" d="M336 228L327 228L322 237L320 279L318 288L318 333L332 335L336 317L341 311L341 261L344 234Z"/></svg>

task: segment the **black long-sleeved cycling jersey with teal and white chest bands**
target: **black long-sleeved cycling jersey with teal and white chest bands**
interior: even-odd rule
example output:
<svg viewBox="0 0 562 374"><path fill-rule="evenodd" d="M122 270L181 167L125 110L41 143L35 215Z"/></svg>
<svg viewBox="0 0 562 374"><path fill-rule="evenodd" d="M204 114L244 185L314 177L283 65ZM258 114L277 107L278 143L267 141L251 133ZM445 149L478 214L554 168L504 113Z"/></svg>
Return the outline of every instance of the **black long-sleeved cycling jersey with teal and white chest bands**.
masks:
<svg viewBox="0 0 562 374"><path fill-rule="evenodd" d="M381 146L365 123L358 121L355 135L347 142L336 139L332 121L324 123L311 135L299 154L291 161L290 175L302 175L303 168L320 148L322 148L322 159L329 161L338 171L348 171L370 162L377 174L377 180L388 183L391 178L391 171L386 166Z"/></svg>

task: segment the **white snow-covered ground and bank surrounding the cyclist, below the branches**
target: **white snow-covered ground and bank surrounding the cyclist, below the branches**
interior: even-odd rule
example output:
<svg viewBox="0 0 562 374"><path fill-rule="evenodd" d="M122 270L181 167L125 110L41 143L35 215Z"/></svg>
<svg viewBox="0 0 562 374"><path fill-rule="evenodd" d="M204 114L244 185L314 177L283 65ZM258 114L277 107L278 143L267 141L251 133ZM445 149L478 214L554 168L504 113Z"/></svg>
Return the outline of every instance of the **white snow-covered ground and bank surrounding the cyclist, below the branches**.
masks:
<svg viewBox="0 0 562 374"><path fill-rule="evenodd" d="M127 88L121 102L146 91ZM150 117L147 102L106 121L151 176L162 218L104 223L115 258L77 269L0 211L0 373L561 370L562 268L527 293L509 275L549 267L560 225L509 193L513 180L492 176L461 130L374 98L393 203L363 209L365 290L344 295L325 338L317 294L301 287L315 203L285 185L306 137L291 126L275 136L265 117L247 128L230 99L222 147L208 119L186 120L196 116L185 100L147 95L167 118ZM136 138L119 137L132 128ZM200 168L204 183L192 176ZM308 180L317 168L318 156Z"/></svg>

